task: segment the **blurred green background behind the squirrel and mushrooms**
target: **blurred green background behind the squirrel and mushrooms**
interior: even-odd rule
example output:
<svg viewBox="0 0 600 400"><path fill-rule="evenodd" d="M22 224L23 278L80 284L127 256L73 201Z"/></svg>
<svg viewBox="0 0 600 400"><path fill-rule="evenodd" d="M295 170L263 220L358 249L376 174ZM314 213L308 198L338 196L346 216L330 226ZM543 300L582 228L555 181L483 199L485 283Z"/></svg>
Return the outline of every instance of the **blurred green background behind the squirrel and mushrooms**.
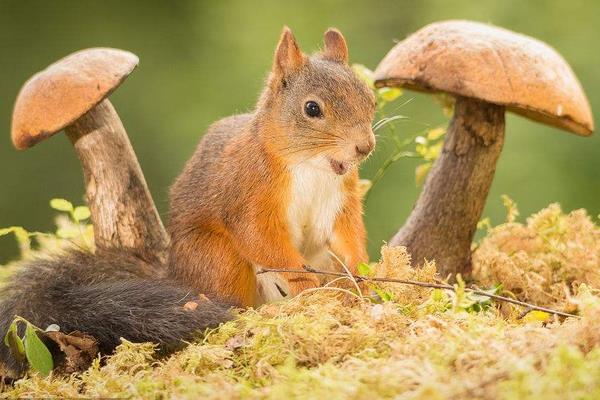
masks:
<svg viewBox="0 0 600 400"><path fill-rule="evenodd" d="M282 26L305 51L321 45L329 26L346 36L352 62L375 68L394 40L427 23L464 18L526 33L555 47L579 77L596 121L600 110L600 2L571 1L23 1L0 0L0 227L53 227L48 201L81 203L79 163L64 135L25 151L10 142L10 117L20 86L34 72L73 51L110 46L136 53L141 63L111 101L133 142L152 194L166 214L169 184L206 127L252 109ZM290 2L292 3L292 2ZM399 113L402 135L446 118L431 97ZM484 216L504 218L501 194L522 216L550 202L565 210L600 212L598 136L580 138L509 115L507 139ZM380 138L362 169L372 177L392 150ZM415 160L401 160L374 188L366 204L372 256L408 215L419 188ZM521 217L523 218L523 217ZM17 254L0 239L0 264Z"/></svg>

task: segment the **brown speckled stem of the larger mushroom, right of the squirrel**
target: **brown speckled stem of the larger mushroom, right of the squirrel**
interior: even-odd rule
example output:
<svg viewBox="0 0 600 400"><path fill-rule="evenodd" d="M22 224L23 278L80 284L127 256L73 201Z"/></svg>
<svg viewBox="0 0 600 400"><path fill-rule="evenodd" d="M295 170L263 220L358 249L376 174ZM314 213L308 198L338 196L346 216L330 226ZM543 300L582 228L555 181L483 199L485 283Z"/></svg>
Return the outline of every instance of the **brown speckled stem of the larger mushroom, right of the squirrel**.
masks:
<svg viewBox="0 0 600 400"><path fill-rule="evenodd" d="M504 144L504 107L457 97L444 147L404 226L390 241L440 275L471 271L471 242Z"/></svg>

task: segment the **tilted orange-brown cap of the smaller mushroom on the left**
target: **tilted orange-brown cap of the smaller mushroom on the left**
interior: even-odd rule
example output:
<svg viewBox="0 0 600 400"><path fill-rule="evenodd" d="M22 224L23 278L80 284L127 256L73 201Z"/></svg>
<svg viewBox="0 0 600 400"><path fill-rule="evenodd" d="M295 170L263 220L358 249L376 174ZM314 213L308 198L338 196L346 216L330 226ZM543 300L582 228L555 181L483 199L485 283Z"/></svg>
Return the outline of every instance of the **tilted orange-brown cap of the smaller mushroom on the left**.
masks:
<svg viewBox="0 0 600 400"><path fill-rule="evenodd" d="M81 50L38 72L21 88L12 141L26 149L60 132L104 100L134 70L138 57L124 50Z"/></svg>

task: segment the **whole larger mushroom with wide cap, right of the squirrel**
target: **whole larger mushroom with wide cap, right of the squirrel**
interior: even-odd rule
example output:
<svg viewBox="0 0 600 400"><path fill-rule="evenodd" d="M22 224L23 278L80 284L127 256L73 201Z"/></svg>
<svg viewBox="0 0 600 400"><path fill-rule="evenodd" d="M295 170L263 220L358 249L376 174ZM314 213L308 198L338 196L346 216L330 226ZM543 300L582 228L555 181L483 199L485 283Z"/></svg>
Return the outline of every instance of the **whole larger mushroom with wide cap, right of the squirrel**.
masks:
<svg viewBox="0 0 600 400"><path fill-rule="evenodd" d="M375 71L378 87L454 96L454 116L412 213L391 239L440 273L470 272L471 242L504 142L504 112L581 136L594 122L565 60L545 43L469 21L427 25L398 43Z"/></svg>

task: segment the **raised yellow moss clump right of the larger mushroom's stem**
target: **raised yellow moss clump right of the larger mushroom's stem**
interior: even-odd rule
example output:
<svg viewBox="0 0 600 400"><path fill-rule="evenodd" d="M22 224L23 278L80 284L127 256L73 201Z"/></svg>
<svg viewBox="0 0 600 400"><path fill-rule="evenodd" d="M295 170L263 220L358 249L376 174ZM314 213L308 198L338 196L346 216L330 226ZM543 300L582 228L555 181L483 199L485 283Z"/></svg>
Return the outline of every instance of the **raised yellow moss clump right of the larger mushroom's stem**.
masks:
<svg viewBox="0 0 600 400"><path fill-rule="evenodd" d="M585 210L558 204L492 228L473 254L473 278L519 299L568 309L581 283L600 288L600 228Z"/></svg>

